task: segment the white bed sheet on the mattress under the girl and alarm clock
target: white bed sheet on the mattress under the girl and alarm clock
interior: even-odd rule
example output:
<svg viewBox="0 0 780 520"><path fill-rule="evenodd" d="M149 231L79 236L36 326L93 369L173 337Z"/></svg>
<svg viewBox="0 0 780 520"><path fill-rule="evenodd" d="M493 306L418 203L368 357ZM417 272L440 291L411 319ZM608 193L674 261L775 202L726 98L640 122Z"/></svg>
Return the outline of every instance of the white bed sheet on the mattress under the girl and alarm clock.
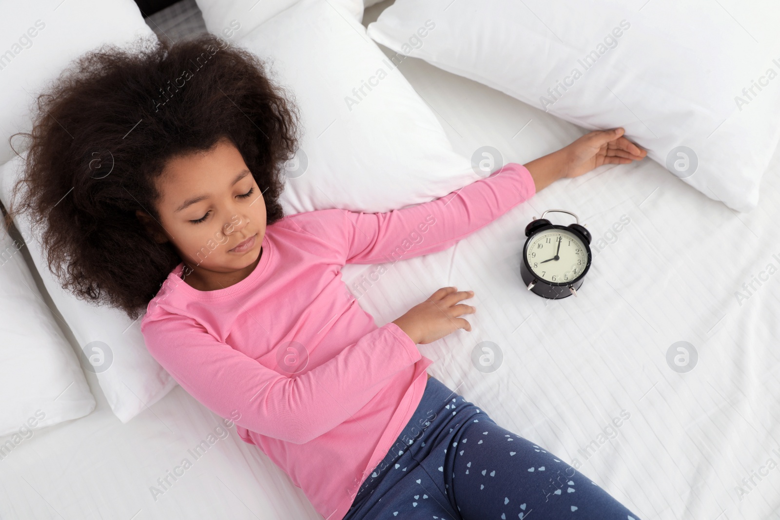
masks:
<svg viewBox="0 0 780 520"><path fill-rule="evenodd" d="M583 133L414 58L400 69L467 157L491 145L523 163ZM579 214L594 241L623 214L630 224L594 251L577 298L548 302L523 287L519 255L525 225L551 208ZM473 289L473 331L420 345L431 373L502 426L577 459L644 520L778 518L780 469L767 464L780 462L780 274L741 306L735 296L767 264L780 268L778 208L780 154L750 214L646 160L556 182L453 248L398 262L367 291L353 282L374 267L349 265L343 278L378 325L437 288ZM480 341L502 348L494 373L471 363ZM675 341L697 349L688 373L666 362ZM0 460L0 518L321 518L235 427L196 460L188 450L222 419L180 387L122 425L87 376L95 412L35 431ZM622 410L630 418L600 444ZM158 479L183 458L192 467L165 490ZM155 498L152 486L165 492Z"/></svg>

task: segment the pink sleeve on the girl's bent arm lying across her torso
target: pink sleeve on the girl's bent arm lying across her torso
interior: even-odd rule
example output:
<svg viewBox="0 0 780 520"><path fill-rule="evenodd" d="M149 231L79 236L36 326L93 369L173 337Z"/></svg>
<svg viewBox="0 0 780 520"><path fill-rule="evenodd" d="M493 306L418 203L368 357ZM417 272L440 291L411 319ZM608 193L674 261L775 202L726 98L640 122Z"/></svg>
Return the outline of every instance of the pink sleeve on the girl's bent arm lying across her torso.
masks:
<svg viewBox="0 0 780 520"><path fill-rule="evenodd" d="M218 341L195 320L161 311L144 322L149 352L193 398L267 437L304 444L366 405L395 373L421 359L394 323L338 356L287 377Z"/></svg>

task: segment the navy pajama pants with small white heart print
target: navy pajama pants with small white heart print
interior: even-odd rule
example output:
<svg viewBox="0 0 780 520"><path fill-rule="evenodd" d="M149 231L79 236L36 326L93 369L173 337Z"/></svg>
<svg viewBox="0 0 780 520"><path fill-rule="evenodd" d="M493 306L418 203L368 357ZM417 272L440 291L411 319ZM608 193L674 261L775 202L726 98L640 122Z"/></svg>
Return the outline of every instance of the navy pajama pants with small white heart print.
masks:
<svg viewBox="0 0 780 520"><path fill-rule="evenodd" d="M640 520L587 476L431 377L344 520Z"/></svg>

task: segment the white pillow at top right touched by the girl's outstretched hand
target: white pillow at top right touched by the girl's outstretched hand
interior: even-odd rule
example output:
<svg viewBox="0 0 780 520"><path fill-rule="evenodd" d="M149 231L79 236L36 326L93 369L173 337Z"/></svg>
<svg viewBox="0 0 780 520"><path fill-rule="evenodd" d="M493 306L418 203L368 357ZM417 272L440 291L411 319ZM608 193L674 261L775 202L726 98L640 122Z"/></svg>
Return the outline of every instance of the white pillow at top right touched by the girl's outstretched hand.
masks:
<svg viewBox="0 0 780 520"><path fill-rule="evenodd" d="M368 34L587 129L623 126L685 182L751 210L780 140L780 4L735 9L709 0L395 0ZM426 22L435 28L415 38Z"/></svg>

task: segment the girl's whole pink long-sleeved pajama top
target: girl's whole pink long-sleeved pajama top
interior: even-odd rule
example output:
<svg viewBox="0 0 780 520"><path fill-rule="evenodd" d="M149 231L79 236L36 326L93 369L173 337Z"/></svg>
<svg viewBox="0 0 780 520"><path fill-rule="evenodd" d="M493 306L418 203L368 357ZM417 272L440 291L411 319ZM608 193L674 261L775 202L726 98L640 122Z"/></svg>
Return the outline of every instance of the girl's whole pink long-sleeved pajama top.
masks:
<svg viewBox="0 0 780 520"><path fill-rule="evenodd" d="M401 210L285 216L268 226L261 260L235 285L198 291L182 280L183 264L168 274L141 322L147 348L324 518L342 520L409 422L432 363L397 325L377 327L342 266L441 251L534 193L528 170L511 163Z"/></svg>

